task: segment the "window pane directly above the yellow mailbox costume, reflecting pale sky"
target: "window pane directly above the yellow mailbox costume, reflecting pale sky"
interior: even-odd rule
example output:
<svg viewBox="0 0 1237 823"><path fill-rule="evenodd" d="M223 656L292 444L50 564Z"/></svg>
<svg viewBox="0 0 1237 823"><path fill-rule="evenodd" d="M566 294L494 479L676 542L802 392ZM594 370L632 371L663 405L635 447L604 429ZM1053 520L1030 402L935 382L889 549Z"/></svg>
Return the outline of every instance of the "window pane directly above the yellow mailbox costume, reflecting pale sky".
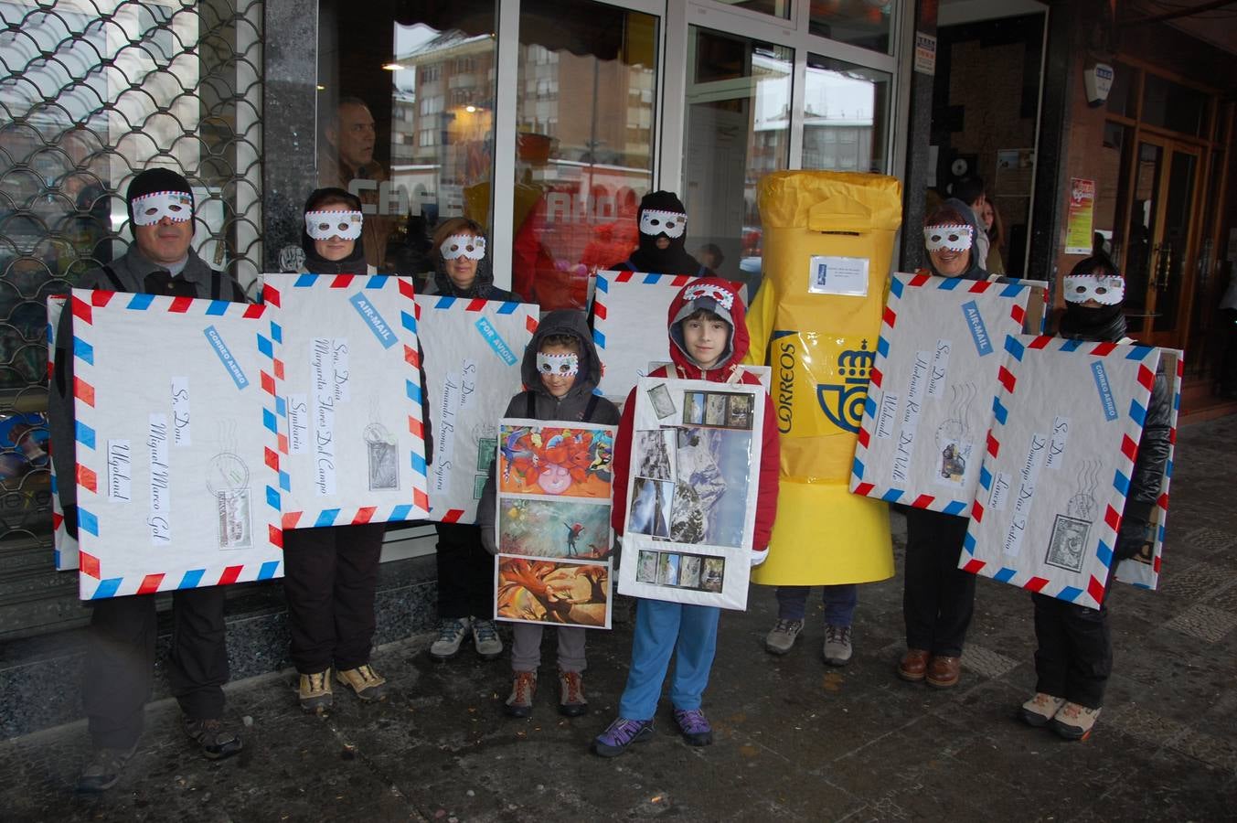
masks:
<svg viewBox="0 0 1237 823"><path fill-rule="evenodd" d="M884 173L891 77L808 54L803 167Z"/></svg>

